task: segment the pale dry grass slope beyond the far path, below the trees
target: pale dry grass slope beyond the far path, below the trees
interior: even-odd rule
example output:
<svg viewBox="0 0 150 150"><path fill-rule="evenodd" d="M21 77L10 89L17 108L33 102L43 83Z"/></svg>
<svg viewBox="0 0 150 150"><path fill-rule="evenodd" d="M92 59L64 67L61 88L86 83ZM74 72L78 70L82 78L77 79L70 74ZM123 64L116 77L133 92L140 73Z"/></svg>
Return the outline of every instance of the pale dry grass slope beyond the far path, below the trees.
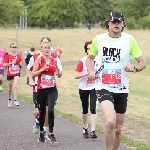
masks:
<svg viewBox="0 0 150 150"><path fill-rule="evenodd" d="M84 43L92 40L95 35L104 33L103 29L66 29L66 30L0 30L0 48L6 49L9 52L9 45L12 42L18 41L18 50L24 52L30 47L35 47L36 51L40 48L40 39L43 36L48 36L52 40L53 48L56 49L59 45L62 50L62 61L76 61L84 56ZM129 30L127 33L132 34L139 46L143 50L143 55L150 58L149 53L149 30ZM16 33L17 37L16 38ZM17 40L18 39L18 40Z"/></svg>

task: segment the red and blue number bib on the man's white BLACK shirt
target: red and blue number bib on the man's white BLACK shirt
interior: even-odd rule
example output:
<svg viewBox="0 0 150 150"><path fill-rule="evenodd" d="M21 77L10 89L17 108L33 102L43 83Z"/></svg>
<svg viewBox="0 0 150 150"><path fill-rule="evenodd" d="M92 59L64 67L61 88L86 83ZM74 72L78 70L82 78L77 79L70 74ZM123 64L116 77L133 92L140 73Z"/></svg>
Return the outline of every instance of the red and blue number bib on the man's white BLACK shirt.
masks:
<svg viewBox="0 0 150 150"><path fill-rule="evenodd" d="M121 86L121 69L103 69L102 85L110 88Z"/></svg>

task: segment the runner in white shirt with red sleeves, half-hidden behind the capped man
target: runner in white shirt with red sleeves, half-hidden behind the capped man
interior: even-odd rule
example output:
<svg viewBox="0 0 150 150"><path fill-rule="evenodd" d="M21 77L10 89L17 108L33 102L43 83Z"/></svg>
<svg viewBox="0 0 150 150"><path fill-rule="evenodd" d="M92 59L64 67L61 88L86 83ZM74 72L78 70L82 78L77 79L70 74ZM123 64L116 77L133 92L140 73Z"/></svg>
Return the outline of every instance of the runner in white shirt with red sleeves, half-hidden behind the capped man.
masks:
<svg viewBox="0 0 150 150"><path fill-rule="evenodd" d="M90 46L92 44L92 41L86 42L84 45L84 50L85 53L88 55ZM96 91L95 91L95 86L96 82L95 80L91 80L89 78L89 74L87 71L87 67L85 64L87 56L83 57L77 67L76 67L76 72L75 72L75 79L80 79L80 84L79 84L79 95L80 95L80 100L82 104L82 121L83 121L83 137L84 138L97 138L95 128L96 128L96 123L98 119L98 114L97 114L97 96L96 96ZM95 65L95 70L98 70L98 67L100 66L99 62L97 59L94 61ZM91 121L91 132L89 134L88 131L88 107L89 107L89 97L90 97L90 111L91 111L91 116L90 116L90 121Z"/></svg>

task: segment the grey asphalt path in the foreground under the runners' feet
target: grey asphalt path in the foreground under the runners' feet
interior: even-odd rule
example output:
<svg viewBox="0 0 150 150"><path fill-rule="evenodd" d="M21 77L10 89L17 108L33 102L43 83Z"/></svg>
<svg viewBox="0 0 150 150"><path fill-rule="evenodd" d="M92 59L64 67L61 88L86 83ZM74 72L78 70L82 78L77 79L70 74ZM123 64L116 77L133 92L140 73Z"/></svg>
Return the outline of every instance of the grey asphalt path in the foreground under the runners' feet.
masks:
<svg viewBox="0 0 150 150"><path fill-rule="evenodd" d="M59 117L55 117L54 128L58 144L38 142L39 134L32 132L33 111L24 101L19 107L8 108L6 93L0 93L0 150L105 150L103 135L98 134L96 140L84 139L82 127ZM132 149L121 144L119 150Z"/></svg>

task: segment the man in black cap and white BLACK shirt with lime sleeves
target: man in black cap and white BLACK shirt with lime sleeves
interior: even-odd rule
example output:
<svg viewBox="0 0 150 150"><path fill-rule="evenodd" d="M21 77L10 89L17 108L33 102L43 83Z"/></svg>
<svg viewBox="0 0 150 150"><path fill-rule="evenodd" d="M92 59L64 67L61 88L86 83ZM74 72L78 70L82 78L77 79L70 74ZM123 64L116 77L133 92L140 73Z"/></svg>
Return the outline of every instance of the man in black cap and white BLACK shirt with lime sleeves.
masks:
<svg viewBox="0 0 150 150"><path fill-rule="evenodd" d="M142 71L146 61L134 37L122 32L125 21L121 12L111 12L105 25L108 32L94 38L86 65L92 80L96 79L93 71L95 56L98 55L104 65L96 92L105 119L106 150L118 150L127 109L128 72ZM130 64L130 55L136 59L137 65Z"/></svg>

